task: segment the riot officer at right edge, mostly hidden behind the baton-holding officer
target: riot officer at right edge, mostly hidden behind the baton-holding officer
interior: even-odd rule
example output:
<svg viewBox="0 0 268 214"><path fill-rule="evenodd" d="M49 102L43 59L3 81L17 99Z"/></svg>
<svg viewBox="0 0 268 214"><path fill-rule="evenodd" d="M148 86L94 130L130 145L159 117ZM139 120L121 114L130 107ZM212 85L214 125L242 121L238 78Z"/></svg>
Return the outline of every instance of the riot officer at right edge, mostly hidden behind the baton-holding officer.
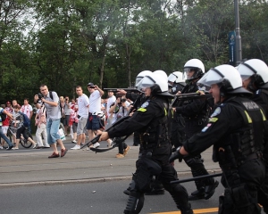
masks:
<svg viewBox="0 0 268 214"><path fill-rule="evenodd" d="M251 59L239 65L243 86L254 95L251 97L255 103L260 105L268 115L268 67L265 62ZM268 146L264 148L265 179L264 184L258 192L258 202L263 206L264 212L268 213Z"/></svg>

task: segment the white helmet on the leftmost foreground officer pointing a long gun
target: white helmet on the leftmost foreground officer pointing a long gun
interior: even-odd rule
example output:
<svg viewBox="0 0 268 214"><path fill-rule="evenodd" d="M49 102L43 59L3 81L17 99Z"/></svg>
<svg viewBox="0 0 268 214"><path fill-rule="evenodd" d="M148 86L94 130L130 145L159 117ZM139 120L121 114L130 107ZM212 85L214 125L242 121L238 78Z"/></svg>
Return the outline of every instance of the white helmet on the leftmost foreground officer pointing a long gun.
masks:
<svg viewBox="0 0 268 214"><path fill-rule="evenodd" d="M165 95L173 98L173 96L168 93L168 82L158 73L153 72L144 77L138 85L140 88L150 87L152 95Z"/></svg>

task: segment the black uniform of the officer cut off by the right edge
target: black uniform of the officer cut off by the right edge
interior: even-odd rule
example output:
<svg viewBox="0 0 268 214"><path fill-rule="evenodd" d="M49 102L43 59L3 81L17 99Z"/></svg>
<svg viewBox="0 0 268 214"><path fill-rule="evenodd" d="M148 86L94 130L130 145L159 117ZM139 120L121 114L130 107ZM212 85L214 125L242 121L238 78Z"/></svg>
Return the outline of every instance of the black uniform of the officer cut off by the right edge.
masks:
<svg viewBox="0 0 268 214"><path fill-rule="evenodd" d="M255 91L252 99L255 103L261 106L268 116L268 90L259 89ZM263 206L264 212L268 213L268 144L264 146L264 163L265 163L265 179L260 191L258 192L258 202Z"/></svg>

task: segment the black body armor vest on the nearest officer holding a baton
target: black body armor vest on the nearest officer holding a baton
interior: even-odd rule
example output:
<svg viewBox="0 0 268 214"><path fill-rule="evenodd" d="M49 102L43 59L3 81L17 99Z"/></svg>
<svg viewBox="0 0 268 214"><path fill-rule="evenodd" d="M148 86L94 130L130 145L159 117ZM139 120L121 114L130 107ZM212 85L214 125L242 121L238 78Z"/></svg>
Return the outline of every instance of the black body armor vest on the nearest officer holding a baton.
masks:
<svg viewBox="0 0 268 214"><path fill-rule="evenodd" d="M259 106L242 97L232 97L226 103L235 106L244 119L244 126L224 136L214 145L216 160L222 168L233 168L261 155L264 148L264 112ZM256 154L256 155L255 155Z"/></svg>

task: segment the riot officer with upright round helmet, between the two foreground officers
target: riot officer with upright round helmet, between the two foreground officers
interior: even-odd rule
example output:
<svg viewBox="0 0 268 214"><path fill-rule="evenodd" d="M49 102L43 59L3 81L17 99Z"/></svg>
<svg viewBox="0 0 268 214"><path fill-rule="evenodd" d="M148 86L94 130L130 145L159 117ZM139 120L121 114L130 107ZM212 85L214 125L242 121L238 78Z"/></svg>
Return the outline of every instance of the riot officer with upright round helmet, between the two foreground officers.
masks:
<svg viewBox="0 0 268 214"><path fill-rule="evenodd" d="M184 65L184 77L186 78L187 86L182 90L182 94L196 93L199 90L197 81L202 78L205 73L203 62L198 59L191 59ZM188 102L178 103L179 106L173 108L177 114L181 114L185 120L186 138L193 136L201 131L207 123L210 114L210 105L207 99L188 100ZM184 161L191 169L193 177L208 175L205 169L204 161L200 154L195 156L187 156ZM215 188L219 185L214 178L205 178L195 181L197 191L191 193L188 197L189 201L198 199L209 199L215 192Z"/></svg>

